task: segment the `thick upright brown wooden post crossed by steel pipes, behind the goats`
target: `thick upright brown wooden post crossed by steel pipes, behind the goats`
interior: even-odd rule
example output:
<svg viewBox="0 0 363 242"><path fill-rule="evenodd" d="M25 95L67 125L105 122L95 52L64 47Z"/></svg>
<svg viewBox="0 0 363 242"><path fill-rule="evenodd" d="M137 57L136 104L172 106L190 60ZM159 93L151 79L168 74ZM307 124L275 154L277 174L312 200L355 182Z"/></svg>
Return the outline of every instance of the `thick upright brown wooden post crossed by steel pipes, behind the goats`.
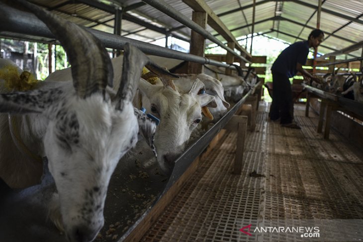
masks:
<svg viewBox="0 0 363 242"><path fill-rule="evenodd" d="M192 20L203 27L207 26L207 13L193 11ZM204 57L205 38L195 31L191 31L190 36L190 54ZM188 74L199 74L203 72L203 65L199 63L188 62Z"/></svg>

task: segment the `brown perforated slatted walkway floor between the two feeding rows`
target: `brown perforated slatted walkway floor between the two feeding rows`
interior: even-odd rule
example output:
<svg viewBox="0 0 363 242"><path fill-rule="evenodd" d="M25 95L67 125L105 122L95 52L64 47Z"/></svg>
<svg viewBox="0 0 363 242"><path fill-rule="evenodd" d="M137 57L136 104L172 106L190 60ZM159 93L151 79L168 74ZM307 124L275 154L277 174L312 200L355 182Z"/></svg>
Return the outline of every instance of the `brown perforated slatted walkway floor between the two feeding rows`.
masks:
<svg viewBox="0 0 363 242"><path fill-rule="evenodd" d="M242 174L231 173L237 137L227 133L142 241L255 241L242 220L363 219L363 152L334 130L324 140L303 105L301 130L268 121L268 108L248 132Z"/></svg>

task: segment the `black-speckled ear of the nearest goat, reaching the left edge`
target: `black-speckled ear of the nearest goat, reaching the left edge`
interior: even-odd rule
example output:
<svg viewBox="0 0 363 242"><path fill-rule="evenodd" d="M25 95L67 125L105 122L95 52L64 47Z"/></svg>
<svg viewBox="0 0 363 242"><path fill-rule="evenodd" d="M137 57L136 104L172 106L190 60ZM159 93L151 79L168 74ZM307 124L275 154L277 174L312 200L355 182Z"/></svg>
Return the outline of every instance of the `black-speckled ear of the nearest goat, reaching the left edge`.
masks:
<svg viewBox="0 0 363 242"><path fill-rule="evenodd" d="M0 94L0 112L2 113L42 113L57 101L62 91L59 89L32 90Z"/></svg>

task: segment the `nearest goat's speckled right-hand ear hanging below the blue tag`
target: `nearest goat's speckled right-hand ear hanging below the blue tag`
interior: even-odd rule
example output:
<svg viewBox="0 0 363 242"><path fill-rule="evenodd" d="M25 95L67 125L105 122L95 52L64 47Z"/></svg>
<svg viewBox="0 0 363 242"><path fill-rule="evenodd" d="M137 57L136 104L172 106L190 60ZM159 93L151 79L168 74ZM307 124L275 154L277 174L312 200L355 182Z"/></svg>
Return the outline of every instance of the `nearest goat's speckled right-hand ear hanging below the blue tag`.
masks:
<svg viewBox="0 0 363 242"><path fill-rule="evenodd" d="M146 114L137 108L134 108L134 113L139 124L139 132L144 137L150 148L153 150L154 155L156 154L156 148L154 146L154 136L156 131L156 124Z"/></svg>

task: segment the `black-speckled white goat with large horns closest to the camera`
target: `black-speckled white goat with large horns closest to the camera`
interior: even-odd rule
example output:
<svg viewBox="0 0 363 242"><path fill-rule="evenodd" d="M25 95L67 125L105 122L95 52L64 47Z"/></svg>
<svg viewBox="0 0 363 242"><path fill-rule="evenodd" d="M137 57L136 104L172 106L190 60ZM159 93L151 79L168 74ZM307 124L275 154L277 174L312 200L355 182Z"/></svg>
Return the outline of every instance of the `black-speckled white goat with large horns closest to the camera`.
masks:
<svg viewBox="0 0 363 242"><path fill-rule="evenodd" d="M104 223L111 174L136 144L138 124L143 124L140 131L150 132L152 141L155 123L132 106L141 69L149 60L125 45L124 72L115 93L106 88L113 80L108 54L90 32L27 1L21 3L60 40L72 65L72 78L0 94L0 112L10 113L9 122L7 115L0 117L0 176L13 187L37 182L41 165L32 157L47 156L58 190L54 203L66 235L71 242L90 242ZM11 139L12 119L17 126L13 132L21 140ZM26 155L17 149L19 144Z"/></svg>

